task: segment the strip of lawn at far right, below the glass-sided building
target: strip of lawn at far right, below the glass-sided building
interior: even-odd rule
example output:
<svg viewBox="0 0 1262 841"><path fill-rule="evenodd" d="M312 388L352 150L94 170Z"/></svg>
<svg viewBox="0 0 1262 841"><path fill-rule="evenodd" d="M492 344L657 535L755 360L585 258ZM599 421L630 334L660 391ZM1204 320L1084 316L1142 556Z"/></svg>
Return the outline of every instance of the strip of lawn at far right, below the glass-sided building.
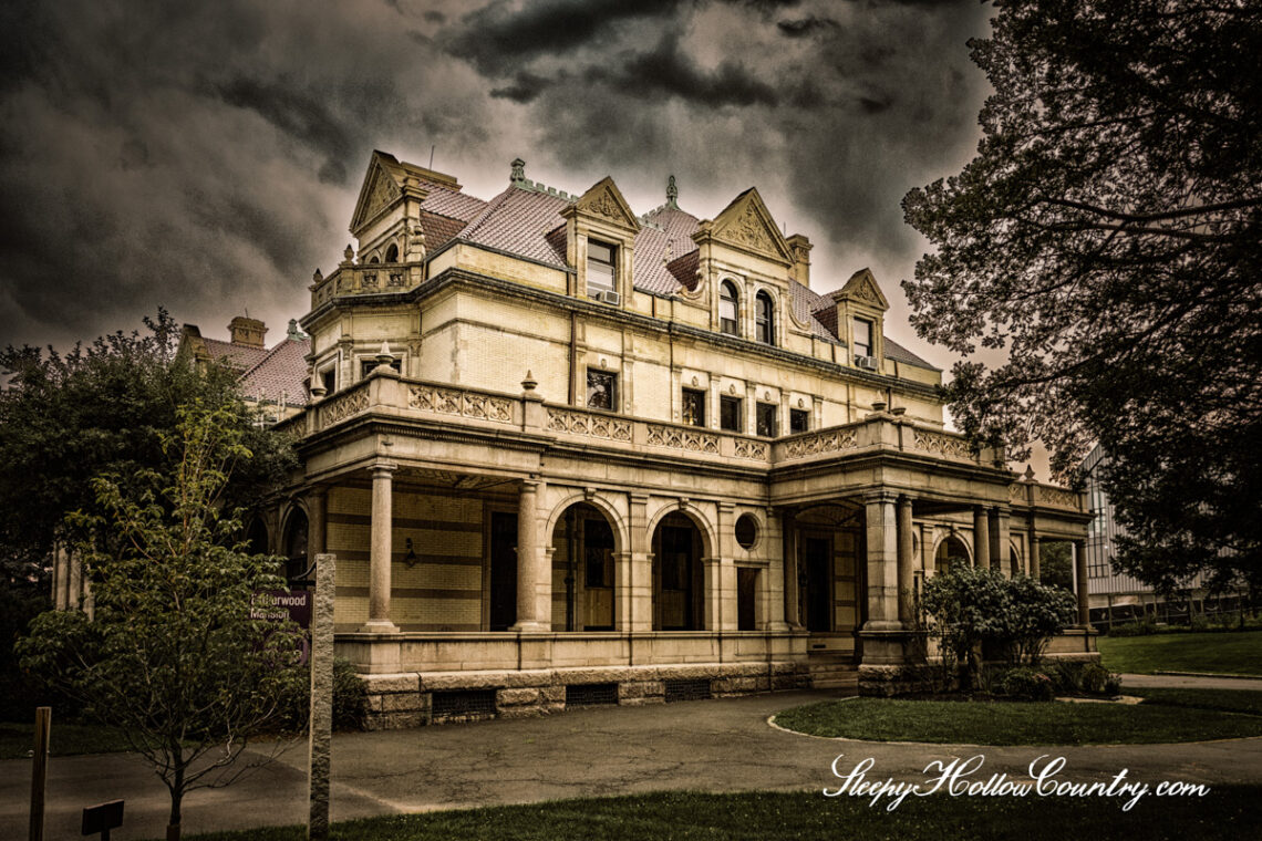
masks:
<svg viewBox="0 0 1262 841"><path fill-rule="evenodd" d="M1100 657L1114 672L1222 672L1262 676L1262 633L1181 633L1100 637Z"/></svg>

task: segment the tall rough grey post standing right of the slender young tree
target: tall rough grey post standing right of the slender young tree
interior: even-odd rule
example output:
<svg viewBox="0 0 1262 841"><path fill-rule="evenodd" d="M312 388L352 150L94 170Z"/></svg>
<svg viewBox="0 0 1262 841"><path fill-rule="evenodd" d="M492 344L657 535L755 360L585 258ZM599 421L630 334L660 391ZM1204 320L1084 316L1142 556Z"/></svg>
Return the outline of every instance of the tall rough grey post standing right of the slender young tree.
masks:
<svg viewBox="0 0 1262 841"><path fill-rule="evenodd" d="M307 837L328 838L328 783L333 741L333 595L336 555L316 556L316 604L312 610L312 714L307 739Z"/></svg>

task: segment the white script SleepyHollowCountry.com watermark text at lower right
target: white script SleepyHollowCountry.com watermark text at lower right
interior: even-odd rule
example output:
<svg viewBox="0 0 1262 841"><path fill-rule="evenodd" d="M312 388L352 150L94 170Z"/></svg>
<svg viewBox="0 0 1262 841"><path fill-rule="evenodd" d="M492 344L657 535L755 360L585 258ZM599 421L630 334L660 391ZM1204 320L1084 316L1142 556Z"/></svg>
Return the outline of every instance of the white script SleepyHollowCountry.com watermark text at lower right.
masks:
<svg viewBox="0 0 1262 841"><path fill-rule="evenodd" d="M1012 778L1006 773L982 778L982 765L986 757L978 754L969 759L935 759L925 765L925 779L921 783L895 782L893 778L868 778L868 772L876 760L868 757L854 764L848 772L842 768L838 754L833 760L833 775L840 783L835 789L824 789L824 797L864 797L868 806L878 806L886 799L885 808L892 812L909 796L926 797L943 793L950 797L1114 797L1122 799L1122 811L1129 812L1143 797L1204 797L1209 786L1185 783L1181 780L1161 780L1155 786L1127 779L1128 769L1123 768L1112 779L1104 782L1074 782L1060 777L1065 768L1064 757L1042 754L1030 763L1029 779Z"/></svg>

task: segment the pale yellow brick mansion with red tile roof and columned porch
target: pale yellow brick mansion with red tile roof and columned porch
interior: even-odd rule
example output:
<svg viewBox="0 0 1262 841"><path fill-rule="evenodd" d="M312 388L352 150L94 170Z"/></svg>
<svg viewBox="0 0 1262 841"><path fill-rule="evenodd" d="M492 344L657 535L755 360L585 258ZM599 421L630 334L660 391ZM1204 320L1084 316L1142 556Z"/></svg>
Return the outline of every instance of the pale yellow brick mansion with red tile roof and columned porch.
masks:
<svg viewBox="0 0 1262 841"><path fill-rule="evenodd" d="M636 214L610 178L567 194L516 160L480 199L375 153L351 233L276 426L303 469L254 537L294 579L336 556L379 726L899 691L924 577L1084 557L1082 496L945 430L877 279L814 291L756 189L700 219L671 178ZM1054 653L1094 652L1079 590Z"/></svg>

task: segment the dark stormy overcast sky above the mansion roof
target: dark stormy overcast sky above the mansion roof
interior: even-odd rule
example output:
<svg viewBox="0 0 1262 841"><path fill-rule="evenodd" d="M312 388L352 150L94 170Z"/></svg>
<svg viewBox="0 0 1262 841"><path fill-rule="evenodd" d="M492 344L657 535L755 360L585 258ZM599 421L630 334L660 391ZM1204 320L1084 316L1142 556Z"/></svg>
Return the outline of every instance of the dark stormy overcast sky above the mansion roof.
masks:
<svg viewBox="0 0 1262 841"><path fill-rule="evenodd" d="M923 241L911 187L972 156L977 0L266 0L0 5L0 344L91 339L159 305L269 344L331 271L372 149L490 198L509 161L632 208L713 216L756 185L815 243L813 287L870 266L887 332Z"/></svg>

